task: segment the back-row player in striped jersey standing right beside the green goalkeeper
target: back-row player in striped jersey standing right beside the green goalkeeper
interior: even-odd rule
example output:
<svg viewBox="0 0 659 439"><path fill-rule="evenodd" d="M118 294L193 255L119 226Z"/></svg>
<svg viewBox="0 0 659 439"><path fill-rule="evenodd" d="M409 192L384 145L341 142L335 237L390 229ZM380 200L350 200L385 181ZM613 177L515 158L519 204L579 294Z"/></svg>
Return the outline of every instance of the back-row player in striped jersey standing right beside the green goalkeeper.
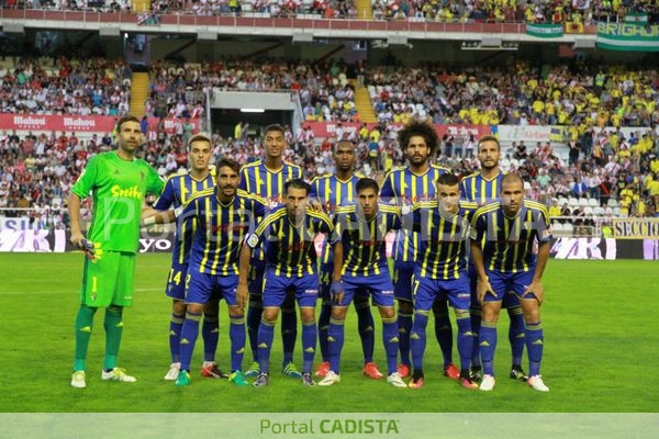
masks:
<svg viewBox="0 0 659 439"><path fill-rule="evenodd" d="M186 173L177 173L167 180L163 194L154 205L160 212L174 209L175 212L182 206L196 193L214 185L213 176L209 169L212 155L212 143L210 137L196 134L188 142L190 170ZM147 221L148 222L148 221ZM171 364L165 375L165 380L174 381L180 370L180 341L181 328L186 318L186 279L188 275L188 262L192 237L197 228L194 217L177 218L176 239L171 251L171 268L167 279L166 294L171 297L171 319L169 320L169 352ZM204 341L203 365L201 375L209 378L223 378L224 373L215 365L215 350L219 337L219 306L217 301L208 303L204 309L202 335Z"/></svg>

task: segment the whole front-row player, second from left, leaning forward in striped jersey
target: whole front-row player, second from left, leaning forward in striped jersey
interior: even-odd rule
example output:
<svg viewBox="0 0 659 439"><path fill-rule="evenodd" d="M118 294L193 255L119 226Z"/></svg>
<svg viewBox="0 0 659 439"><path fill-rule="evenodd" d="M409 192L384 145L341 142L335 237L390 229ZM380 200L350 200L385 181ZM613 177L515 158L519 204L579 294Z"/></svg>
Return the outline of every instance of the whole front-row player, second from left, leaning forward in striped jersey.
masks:
<svg viewBox="0 0 659 439"><path fill-rule="evenodd" d="M270 213L243 246L238 304L247 297L247 272L255 248L264 245L266 273L264 278L264 316L258 328L259 375L254 385L269 382L270 349L279 308L287 295L293 295L302 319L302 383L315 385L311 368L317 337L315 306L319 295L319 275L314 239L321 233L332 234L334 227L322 212L309 207L311 185L302 179L283 185L286 205ZM294 311L294 309L293 309Z"/></svg>

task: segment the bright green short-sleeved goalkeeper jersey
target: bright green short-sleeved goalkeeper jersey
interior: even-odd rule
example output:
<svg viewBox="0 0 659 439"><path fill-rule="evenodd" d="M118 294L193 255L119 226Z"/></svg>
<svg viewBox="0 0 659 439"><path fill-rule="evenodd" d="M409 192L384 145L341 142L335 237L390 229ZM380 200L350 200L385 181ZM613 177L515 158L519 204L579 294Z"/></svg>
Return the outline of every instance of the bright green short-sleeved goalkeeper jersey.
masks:
<svg viewBox="0 0 659 439"><path fill-rule="evenodd" d="M92 223L87 232L104 251L137 252L139 215L146 193L158 195L163 180L144 160L123 160L116 151L92 157L71 192L92 195Z"/></svg>

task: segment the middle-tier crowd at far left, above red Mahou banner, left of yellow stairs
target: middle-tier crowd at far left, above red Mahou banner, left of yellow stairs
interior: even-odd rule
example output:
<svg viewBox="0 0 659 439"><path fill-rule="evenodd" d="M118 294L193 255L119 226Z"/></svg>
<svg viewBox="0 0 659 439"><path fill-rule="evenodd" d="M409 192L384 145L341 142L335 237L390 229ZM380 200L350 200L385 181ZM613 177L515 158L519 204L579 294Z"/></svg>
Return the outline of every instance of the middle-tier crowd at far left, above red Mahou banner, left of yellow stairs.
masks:
<svg viewBox="0 0 659 439"><path fill-rule="evenodd" d="M121 59L5 57L0 60L0 112L123 115L131 76Z"/></svg>

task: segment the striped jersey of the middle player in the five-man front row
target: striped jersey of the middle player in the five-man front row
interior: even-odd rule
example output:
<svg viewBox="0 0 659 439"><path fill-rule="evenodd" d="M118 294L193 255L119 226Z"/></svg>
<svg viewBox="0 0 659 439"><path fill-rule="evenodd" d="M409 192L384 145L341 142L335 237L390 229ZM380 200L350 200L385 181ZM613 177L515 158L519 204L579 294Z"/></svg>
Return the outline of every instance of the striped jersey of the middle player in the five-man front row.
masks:
<svg viewBox="0 0 659 439"><path fill-rule="evenodd" d="M401 209L379 204L376 216L366 221L358 204L342 206L334 216L336 239L344 246L344 277L388 273L387 234L401 228Z"/></svg>

